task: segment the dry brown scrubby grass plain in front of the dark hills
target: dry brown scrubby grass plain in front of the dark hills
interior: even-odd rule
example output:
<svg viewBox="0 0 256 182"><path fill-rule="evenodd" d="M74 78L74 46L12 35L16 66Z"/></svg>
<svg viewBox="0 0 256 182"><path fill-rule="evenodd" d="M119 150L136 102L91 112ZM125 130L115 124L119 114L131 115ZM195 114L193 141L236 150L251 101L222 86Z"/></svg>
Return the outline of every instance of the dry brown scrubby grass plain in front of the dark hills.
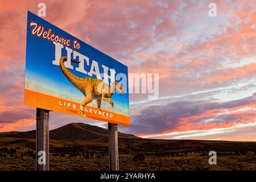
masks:
<svg viewBox="0 0 256 182"><path fill-rule="evenodd" d="M9 148L10 149L10 148ZM35 158L21 155L27 148L16 150L14 157L10 154L6 158L0 156L0 170L34 170ZM35 151L33 151L35 152ZM0 154L0 155L1 155ZM94 155L93 155L94 154ZM16 155L16 158L15 158ZM246 155L220 155L217 156L217 165L209 165L209 156L205 152L179 153L179 156L155 156L145 154L144 160L134 161L133 154L119 155L119 168L121 170L256 170L256 155L254 152L247 152ZM205 156L202 156L205 155ZM77 156L69 154L50 154L50 170L108 170L109 158L102 152L84 154L77 153Z"/></svg>

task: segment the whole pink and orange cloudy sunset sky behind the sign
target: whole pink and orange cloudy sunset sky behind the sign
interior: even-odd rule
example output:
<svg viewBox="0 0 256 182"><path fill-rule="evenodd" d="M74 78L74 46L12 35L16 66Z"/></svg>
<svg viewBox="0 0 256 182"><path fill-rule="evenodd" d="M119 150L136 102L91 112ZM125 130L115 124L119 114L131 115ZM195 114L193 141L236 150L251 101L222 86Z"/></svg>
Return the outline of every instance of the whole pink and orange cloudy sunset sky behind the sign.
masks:
<svg viewBox="0 0 256 182"><path fill-rule="evenodd" d="M256 141L255 1L0 0L0 132L35 129L23 105L27 10L128 66L159 73L159 98L130 94L131 126L144 138ZM217 17L208 15L209 3ZM133 85L130 85L133 86ZM52 112L50 129L105 122Z"/></svg>

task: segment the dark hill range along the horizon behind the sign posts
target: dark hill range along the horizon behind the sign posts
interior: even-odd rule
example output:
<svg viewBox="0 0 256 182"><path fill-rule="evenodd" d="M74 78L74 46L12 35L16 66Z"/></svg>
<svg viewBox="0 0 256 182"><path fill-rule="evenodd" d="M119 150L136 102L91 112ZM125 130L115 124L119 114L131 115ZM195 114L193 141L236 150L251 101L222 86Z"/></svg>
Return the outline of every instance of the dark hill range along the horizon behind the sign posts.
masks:
<svg viewBox="0 0 256 182"><path fill-rule="evenodd" d="M0 138L35 139L36 131L11 131L0 133ZM108 144L108 130L84 123L70 123L49 131L50 140L55 143L68 144ZM58 142L59 141L59 142ZM20 141L22 142L22 140ZM81 143L82 142L82 143ZM184 152L184 151L256 151L256 142L229 142L214 140L164 140L143 139L131 134L118 132L119 148L125 150L147 152Z"/></svg>

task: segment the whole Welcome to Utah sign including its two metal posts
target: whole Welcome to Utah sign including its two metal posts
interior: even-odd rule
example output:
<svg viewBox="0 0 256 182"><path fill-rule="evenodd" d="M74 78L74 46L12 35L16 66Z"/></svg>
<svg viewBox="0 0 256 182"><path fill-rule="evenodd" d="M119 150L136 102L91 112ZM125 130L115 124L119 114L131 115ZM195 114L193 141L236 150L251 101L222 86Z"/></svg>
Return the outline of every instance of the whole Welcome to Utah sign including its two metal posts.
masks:
<svg viewBox="0 0 256 182"><path fill-rule="evenodd" d="M49 111L57 111L108 122L110 169L118 170L128 88L126 65L28 11L24 104L37 108L36 169L48 170Z"/></svg>

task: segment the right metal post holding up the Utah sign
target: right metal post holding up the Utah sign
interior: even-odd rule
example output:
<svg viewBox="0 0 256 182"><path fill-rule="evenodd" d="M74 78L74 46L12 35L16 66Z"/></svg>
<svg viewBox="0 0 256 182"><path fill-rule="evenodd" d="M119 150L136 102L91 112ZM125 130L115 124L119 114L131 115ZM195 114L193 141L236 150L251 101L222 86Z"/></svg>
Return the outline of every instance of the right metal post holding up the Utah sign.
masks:
<svg viewBox="0 0 256 182"><path fill-rule="evenodd" d="M109 123L109 169L119 170L117 125Z"/></svg>

